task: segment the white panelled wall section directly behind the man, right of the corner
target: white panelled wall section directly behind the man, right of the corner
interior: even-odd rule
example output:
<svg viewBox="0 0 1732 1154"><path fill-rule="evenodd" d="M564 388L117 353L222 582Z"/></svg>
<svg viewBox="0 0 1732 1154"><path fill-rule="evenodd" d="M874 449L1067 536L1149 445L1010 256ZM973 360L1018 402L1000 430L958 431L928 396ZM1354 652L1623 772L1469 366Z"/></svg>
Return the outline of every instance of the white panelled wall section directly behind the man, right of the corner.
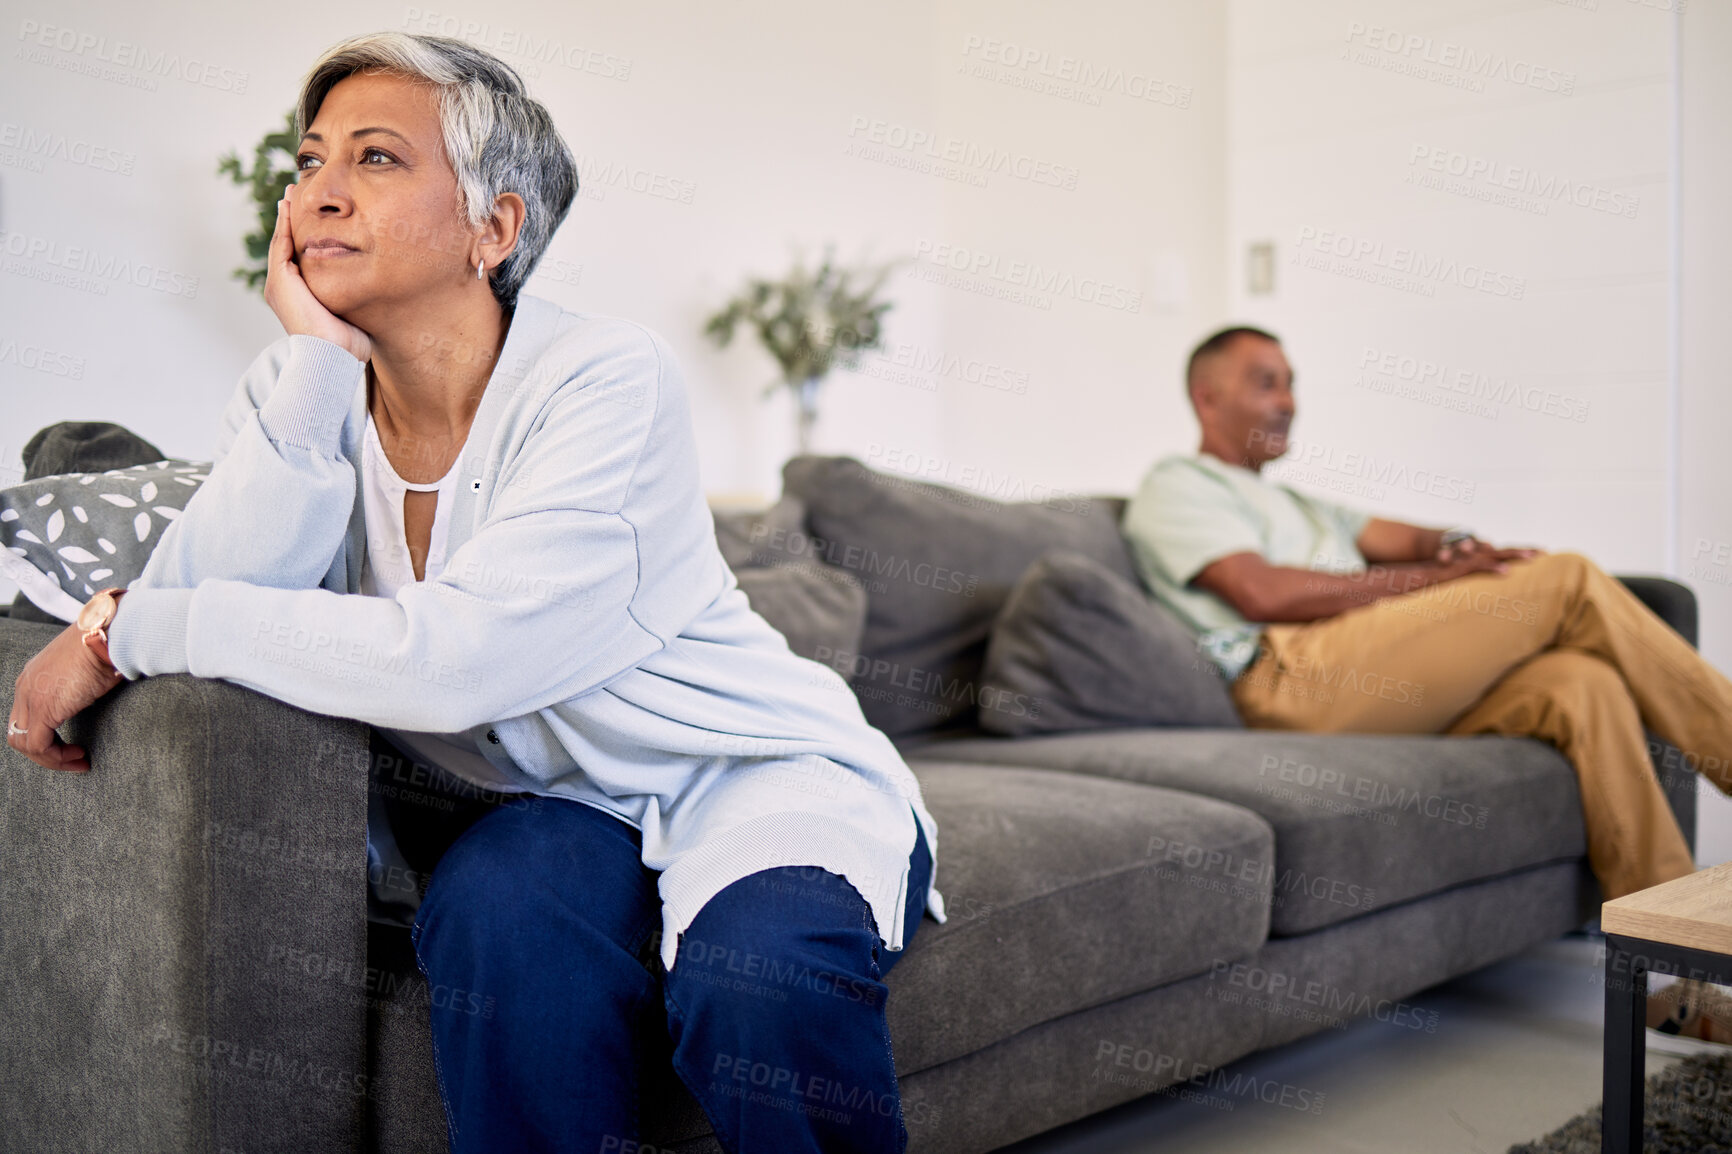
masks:
<svg viewBox="0 0 1732 1154"><path fill-rule="evenodd" d="M1538 66L1559 90L1391 71L1425 50ZM1240 272L1233 310L1280 333L1299 376L1280 471L1403 520L1663 570L1671 17L1628 0L1235 0L1228 73L1228 265L1276 246L1276 291L1247 295ZM1503 192L1484 177L1419 184L1476 161L1592 189L1590 206L1481 199ZM1481 277L1491 291L1469 288Z"/></svg>

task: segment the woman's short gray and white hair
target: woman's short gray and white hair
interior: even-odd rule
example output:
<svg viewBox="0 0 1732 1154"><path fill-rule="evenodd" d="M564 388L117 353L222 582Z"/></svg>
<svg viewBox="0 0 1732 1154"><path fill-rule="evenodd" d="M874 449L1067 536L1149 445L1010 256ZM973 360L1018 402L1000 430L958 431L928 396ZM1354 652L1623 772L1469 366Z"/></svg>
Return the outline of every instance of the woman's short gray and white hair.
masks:
<svg viewBox="0 0 1732 1154"><path fill-rule="evenodd" d="M488 277L494 298L511 312L577 198L577 161L553 116L497 55L450 36L383 31L343 40L307 73L294 102L296 140L331 88L362 71L398 73L433 85L445 158L457 173L459 211L471 229L492 217L501 192L523 198L518 244Z"/></svg>

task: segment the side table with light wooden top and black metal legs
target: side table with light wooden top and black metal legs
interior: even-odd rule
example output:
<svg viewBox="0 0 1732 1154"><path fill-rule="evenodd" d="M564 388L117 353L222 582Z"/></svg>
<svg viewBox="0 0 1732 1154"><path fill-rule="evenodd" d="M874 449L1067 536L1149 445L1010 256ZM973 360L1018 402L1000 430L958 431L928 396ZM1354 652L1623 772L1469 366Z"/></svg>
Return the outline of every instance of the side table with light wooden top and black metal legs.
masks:
<svg viewBox="0 0 1732 1154"><path fill-rule="evenodd" d="M1600 906L1606 934L1602 1154L1642 1154L1647 976L1732 984L1732 861Z"/></svg>

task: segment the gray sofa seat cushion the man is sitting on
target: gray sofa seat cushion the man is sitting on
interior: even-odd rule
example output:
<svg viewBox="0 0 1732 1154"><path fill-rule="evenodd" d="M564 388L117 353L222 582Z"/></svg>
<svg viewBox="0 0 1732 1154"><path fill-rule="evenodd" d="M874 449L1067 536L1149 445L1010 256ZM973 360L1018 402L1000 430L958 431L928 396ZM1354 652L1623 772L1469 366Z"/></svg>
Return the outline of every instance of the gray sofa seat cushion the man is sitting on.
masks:
<svg viewBox="0 0 1732 1154"><path fill-rule="evenodd" d="M909 766L1046 766L1244 806L1275 828L1273 936L1587 853L1574 769L1533 738L1114 729L927 740L902 754Z"/></svg>

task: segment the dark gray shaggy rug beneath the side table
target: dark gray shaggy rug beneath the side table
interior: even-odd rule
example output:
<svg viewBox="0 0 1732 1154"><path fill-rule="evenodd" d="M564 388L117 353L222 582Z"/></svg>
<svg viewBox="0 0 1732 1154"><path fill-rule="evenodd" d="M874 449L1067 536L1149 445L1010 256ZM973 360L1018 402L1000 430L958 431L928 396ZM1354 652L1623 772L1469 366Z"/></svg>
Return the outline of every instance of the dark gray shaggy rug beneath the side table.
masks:
<svg viewBox="0 0 1732 1154"><path fill-rule="evenodd" d="M1600 1107L1509 1154L1600 1154ZM1732 1154L1732 1054L1697 1054L1647 1079L1642 1154Z"/></svg>

